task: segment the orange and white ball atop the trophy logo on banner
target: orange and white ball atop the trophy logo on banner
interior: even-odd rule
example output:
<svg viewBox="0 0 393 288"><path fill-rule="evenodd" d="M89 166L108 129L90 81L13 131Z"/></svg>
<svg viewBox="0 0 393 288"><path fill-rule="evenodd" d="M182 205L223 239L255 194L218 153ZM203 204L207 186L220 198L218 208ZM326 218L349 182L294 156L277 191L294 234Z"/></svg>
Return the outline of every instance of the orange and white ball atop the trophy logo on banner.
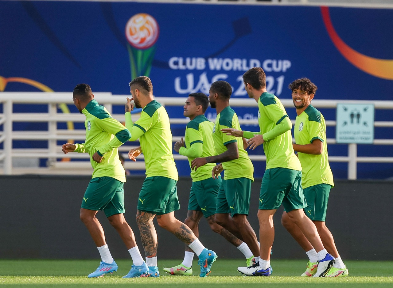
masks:
<svg viewBox="0 0 393 288"><path fill-rule="evenodd" d="M146 13L135 14L125 26L125 36L128 42L137 49L147 49L153 46L158 39L158 33L156 19Z"/></svg>

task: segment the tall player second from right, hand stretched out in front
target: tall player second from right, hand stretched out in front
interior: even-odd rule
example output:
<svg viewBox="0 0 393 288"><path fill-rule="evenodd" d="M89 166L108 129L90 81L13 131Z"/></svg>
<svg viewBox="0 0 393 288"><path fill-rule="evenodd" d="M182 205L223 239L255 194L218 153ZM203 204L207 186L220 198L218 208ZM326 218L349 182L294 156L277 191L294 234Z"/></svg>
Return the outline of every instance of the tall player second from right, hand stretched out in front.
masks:
<svg viewBox="0 0 393 288"><path fill-rule="evenodd" d="M323 247L318 231L305 215L307 206L301 188L301 165L292 148L292 123L283 104L275 95L266 91L266 75L262 68L254 67L243 75L244 87L248 97L258 103L258 122L260 132L224 129L224 133L245 137L249 148L255 149L263 144L266 155L266 171L263 175L259 194L259 240L261 258L249 267L239 267L241 273L251 276L271 274L270 251L274 241L273 215L283 204L288 217L312 243L318 257L316 276L325 276L334 263L334 257Z"/></svg>

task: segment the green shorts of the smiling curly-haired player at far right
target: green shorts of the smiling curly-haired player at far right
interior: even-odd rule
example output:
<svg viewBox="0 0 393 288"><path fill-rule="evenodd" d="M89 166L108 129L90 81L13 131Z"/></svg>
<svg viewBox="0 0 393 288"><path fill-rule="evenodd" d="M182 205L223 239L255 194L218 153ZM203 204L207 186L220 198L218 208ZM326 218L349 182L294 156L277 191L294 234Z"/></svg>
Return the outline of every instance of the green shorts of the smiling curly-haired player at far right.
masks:
<svg viewBox="0 0 393 288"><path fill-rule="evenodd" d="M326 219L327 201L332 186L329 184L317 184L303 189L307 207L304 213L312 221L323 221Z"/></svg>

